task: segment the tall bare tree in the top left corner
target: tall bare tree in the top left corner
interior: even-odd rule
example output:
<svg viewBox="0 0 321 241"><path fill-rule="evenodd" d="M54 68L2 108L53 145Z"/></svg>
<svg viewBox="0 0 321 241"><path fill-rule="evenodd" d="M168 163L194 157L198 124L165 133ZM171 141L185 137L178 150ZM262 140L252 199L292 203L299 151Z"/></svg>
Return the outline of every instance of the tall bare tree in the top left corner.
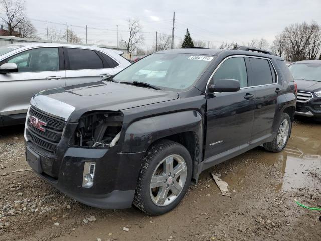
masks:
<svg viewBox="0 0 321 241"><path fill-rule="evenodd" d="M14 34L14 29L26 18L25 2L21 0L0 0L1 11L4 17L0 16L8 26L8 35Z"/></svg>

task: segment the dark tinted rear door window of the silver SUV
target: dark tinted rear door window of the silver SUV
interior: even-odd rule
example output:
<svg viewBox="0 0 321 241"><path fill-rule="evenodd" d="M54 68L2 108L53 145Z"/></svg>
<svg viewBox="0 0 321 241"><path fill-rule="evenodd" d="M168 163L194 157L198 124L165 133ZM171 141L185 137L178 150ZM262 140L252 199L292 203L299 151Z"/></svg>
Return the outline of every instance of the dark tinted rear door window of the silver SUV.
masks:
<svg viewBox="0 0 321 241"><path fill-rule="evenodd" d="M69 70L102 69L103 62L95 51L89 49L66 48Z"/></svg>

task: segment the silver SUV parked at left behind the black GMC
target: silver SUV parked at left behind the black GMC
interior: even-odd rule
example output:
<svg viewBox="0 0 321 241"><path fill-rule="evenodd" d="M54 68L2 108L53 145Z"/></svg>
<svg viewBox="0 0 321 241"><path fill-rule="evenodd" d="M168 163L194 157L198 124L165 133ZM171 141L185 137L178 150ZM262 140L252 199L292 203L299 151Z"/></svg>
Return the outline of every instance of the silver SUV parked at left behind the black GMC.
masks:
<svg viewBox="0 0 321 241"><path fill-rule="evenodd" d="M121 51L71 44L0 47L0 127L24 123L31 97L45 89L96 82L131 63Z"/></svg>

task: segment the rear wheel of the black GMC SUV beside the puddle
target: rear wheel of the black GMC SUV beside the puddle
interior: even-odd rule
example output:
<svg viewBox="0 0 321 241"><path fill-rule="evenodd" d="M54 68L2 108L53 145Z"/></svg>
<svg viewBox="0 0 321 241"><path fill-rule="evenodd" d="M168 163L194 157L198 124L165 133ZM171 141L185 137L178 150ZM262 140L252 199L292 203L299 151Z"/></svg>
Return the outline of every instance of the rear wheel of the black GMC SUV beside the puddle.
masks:
<svg viewBox="0 0 321 241"><path fill-rule="evenodd" d="M276 135L271 142L263 143L265 150L270 152L281 152L289 140L292 129L291 118L287 113L282 113Z"/></svg>

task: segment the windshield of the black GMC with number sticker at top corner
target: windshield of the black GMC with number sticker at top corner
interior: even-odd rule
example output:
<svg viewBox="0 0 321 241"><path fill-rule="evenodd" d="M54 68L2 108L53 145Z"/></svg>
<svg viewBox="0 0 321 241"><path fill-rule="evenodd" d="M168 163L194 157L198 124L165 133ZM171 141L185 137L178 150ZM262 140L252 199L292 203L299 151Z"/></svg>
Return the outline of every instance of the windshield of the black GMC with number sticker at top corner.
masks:
<svg viewBox="0 0 321 241"><path fill-rule="evenodd" d="M117 74L114 80L144 82L162 90L182 91L199 79L213 59L192 54L152 54Z"/></svg>

